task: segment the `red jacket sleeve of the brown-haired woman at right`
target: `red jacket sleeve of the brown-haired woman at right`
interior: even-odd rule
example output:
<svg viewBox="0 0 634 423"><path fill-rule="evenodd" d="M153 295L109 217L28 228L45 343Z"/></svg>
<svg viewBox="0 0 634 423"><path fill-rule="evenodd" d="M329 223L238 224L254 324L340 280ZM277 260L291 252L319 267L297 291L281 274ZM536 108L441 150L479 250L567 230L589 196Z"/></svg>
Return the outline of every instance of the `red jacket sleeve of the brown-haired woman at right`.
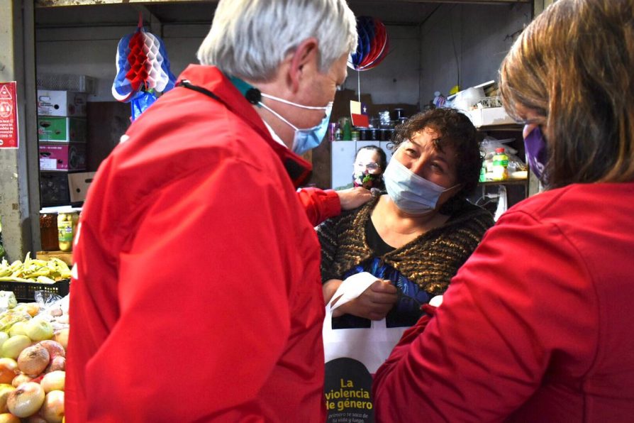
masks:
<svg viewBox="0 0 634 423"><path fill-rule="evenodd" d="M453 278L435 316L410 329L377 371L377 422L508 417L552 361L592 356L598 335L589 280L555 224L507 212Z"/></svg>

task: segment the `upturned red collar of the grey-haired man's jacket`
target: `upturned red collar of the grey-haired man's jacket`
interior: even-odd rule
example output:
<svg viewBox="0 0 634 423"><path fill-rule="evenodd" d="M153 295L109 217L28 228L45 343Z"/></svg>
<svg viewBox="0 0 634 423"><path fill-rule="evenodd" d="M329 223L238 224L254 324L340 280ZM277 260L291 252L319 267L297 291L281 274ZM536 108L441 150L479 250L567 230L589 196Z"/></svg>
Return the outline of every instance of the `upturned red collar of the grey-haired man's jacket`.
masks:
<svg viewBox="0 0 634 423"><path fill-rule="evenodd" d="M252 104L230 82L223 72L215 66L189 65L178 77L178 82L188 80L197 87L213 92L219 97L227 109L253 128L277 154L287 170L295 187L304 184L311 176L312 166L303 158L293 153L286 145L273 140L264 121ZM178 83L177 82L177 83ZM201 94L204 95L204 94ZM211 101L216 101L210 98Z"/></svg>

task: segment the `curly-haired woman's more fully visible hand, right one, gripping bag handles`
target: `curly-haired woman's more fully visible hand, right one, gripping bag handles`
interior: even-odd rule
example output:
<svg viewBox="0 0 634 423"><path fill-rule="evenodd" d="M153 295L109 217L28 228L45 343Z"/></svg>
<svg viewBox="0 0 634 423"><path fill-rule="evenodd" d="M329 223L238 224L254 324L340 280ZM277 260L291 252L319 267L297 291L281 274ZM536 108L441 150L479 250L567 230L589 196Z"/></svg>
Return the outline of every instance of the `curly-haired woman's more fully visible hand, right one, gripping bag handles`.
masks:
<svg viewBox="0 0 634 423"><path fill-rule="evenodd" d="M355 300L335 309L333 317L352 314L370 320L384 319L399 298L397 292L389 280L379 279Z"/></svg>

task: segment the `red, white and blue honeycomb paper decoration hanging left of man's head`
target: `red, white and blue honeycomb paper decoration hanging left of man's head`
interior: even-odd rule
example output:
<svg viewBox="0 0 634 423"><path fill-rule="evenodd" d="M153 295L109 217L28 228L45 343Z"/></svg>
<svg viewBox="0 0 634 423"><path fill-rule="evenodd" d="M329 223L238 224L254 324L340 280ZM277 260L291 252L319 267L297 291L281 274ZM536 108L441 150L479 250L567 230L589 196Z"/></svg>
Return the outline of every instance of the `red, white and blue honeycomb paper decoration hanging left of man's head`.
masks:
<svg viewBox="0 0 634 423"><path fill-rule="evenodd" d="M174 88L176 77L169 70L165 45L145 31L140 13L136 31L119 40L116 65L112 95L118 101L130 102L133 121L156 101L157 92Z"/></svg>

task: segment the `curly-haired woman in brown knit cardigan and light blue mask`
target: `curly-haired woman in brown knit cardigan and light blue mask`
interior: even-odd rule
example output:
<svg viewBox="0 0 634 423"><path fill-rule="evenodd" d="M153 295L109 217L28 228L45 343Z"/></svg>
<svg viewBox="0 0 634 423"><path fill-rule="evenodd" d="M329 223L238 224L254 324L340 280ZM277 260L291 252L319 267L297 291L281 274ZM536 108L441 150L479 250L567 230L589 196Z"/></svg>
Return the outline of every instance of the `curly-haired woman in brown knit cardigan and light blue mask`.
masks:
<svg viewBox="0 0 634 423"><path fill-rule="evenodd" d="M482 157L477 131L453 109L416 114L396 128L383 174L387 194L318 226L326 304L343 280L376 278L333 312L333 329L411 326L421 305L445 292L493 217L467 202Z"/></svg>

